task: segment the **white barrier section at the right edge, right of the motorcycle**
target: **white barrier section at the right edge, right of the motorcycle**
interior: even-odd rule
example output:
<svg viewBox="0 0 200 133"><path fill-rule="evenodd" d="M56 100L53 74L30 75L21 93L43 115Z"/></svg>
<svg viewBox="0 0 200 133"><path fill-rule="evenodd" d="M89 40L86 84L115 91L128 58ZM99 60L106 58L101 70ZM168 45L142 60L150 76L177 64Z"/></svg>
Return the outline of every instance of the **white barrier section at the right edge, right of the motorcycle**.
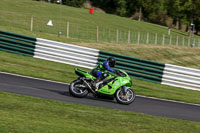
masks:
<svg viewBox="0 0 200 133"><path fill-rule="evenodd" d="M165 65L161 84L200 91L200 70L170 64Z"/></svg>

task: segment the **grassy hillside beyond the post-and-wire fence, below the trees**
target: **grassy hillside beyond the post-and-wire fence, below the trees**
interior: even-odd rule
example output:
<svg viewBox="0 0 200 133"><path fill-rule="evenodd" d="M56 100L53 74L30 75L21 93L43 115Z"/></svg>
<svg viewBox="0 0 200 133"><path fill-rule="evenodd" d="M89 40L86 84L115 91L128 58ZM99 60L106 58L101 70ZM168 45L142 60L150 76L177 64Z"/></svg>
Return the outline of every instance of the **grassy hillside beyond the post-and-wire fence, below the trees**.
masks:
<svg viewBox="0 0 200 133"><path fill-rule="evenodd" d="M20 32L23 29L30 35L36 37L46 37L46 33L52 35L52 39L57 37L60 30L62 36L66 35L66 24L70 22L70 37L78 41L95 42L96 28L99 27L99 40L101 42L116 42L116 31L119 30L119 42L127 43L128 31L131 31L131 43L137 43L137 32L141 33L140 43L146 42L146 33L150 33L150 43L155 43L155 33L158 34L158 44L162 44L163 34L168 34L168 28L147 22L138 22L129 18L116 15L95 12L89 14L88 9L74 8L47 2L37 2L34 0L2 0L0 1L0 23L7 27L8 31ZM31 16L34 17L33 32L30 32ZM47 23L53 21L54 26L49 27ZM172 43L176 44L176 36L188 36L187 32L172 29ZM199 37L195 36L199 39ZM78 39L77 39L78 38ZM179 45L182 45L182 37L179 38ZM169 43L169 38L166 38ZM191 40L192 43L192 40ZM188 44L185 38L185 44ZM198 45L198 40L195 42Z"/></svg>

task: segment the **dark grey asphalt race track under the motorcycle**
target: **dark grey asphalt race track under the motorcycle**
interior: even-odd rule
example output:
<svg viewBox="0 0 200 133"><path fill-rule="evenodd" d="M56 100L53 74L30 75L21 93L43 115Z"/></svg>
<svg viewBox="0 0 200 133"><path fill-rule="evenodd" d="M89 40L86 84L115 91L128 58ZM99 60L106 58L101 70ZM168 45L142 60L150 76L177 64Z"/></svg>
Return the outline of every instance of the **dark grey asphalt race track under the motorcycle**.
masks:
<svg viewBox="0 0 200 133"><path fill-rule="evenodd" d="M200 105L142 96L137 96L134 103L130 105L121 105L115 100L99 99L93 96L75 98L69 94L68 88L69 85L64 83L0 73L0 91L200 122Z"/></svg>

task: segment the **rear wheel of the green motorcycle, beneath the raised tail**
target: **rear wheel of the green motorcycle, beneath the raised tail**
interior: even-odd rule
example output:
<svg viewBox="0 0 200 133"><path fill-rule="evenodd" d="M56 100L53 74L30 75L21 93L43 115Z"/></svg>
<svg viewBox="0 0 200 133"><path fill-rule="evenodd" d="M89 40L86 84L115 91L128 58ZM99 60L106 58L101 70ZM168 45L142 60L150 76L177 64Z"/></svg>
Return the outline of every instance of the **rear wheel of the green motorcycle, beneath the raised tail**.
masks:
<svg viewBox="0 0 200 133"><path fill-rule="evenodd" d="M87 96L88 89L82 80L75 80L70 84L69 93L74 97L83 98Z"/></svg>

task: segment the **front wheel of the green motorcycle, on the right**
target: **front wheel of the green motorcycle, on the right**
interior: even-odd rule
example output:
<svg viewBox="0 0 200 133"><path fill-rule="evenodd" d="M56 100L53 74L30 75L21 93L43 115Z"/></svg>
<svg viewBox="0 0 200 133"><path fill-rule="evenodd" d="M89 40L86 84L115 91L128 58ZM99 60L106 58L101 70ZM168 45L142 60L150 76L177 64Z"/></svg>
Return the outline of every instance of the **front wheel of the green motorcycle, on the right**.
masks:
<svg viewBox="0 0 200 133"><path fill-rule="evenodd" d="M118 89L116 92L116 100L120 104L131 104L135 100L135 92L128 88L126 94L124 94L123 89Z"/></svg>

